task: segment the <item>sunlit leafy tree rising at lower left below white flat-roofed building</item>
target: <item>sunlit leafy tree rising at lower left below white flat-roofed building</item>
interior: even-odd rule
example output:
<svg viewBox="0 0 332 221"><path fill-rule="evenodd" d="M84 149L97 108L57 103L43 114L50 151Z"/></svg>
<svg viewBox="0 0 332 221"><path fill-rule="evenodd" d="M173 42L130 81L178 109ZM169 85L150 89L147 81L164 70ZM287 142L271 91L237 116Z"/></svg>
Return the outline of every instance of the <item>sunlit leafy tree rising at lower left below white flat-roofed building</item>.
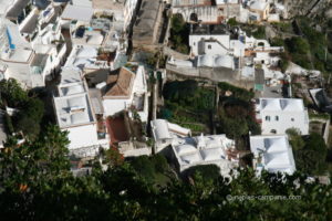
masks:
<svg viewBox="0 0 332 221"><path fill-rule="evenodd" d="M2 187L15 191L21 185L33 188L69 172L66 135L58 126L48 126L33 143L25 140L19 145L15 137L10 137L0 152Z"/></svg>

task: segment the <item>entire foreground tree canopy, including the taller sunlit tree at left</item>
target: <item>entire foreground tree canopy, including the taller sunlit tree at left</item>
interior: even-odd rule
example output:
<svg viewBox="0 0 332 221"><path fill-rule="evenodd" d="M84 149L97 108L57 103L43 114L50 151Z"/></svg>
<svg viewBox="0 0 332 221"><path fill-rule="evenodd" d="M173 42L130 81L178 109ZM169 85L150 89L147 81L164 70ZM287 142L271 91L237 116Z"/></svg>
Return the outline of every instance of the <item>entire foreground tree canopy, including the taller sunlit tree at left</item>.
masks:
<svg viewBox="0 0 332 221"><path fill-rule="evenodd" d="M56 126L48 127L33 144L18 146L14 139L6 144L0 154L1 220L252 221L332 217L331 185L308 183L299 173L262 173L257 178L252 169L242 169L230 181L219 176L207 179L201 172L208 171L200 169L188 182L173 177L167 185L156 186L124 162L106 171L96 166L92 175L75 178L69 170L66 145L66 134Z"/></svg>

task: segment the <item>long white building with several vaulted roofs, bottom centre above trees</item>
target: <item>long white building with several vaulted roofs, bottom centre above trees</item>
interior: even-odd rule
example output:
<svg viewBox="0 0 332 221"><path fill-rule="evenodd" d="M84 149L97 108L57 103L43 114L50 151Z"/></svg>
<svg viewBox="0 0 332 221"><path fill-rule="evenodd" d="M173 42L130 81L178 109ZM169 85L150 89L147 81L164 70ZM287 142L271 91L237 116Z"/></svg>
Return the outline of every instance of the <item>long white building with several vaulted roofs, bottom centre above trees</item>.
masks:
<svg viewBox="0 0 332 221"><path fill-rule="evenodd" d="M225 177L238 167L235 141L226 135L190 137L190 129L168 123L165 119L151 122L156 152L170 146L172 156L181 172L199 165L216 165Z"/></svg>

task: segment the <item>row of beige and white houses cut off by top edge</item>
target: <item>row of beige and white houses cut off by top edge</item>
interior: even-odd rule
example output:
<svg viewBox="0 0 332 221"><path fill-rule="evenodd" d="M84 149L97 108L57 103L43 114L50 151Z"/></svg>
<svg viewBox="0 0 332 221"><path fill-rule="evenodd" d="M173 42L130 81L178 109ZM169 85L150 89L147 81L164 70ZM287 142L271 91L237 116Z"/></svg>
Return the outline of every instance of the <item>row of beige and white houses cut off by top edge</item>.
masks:
<svg viewBox="0 0 332 221"><path fill-rule="evenodd" d="M187 22L220 24L228 19L239 22L278 22L288 13L278 0L172 0L173 13Z"/></svg>

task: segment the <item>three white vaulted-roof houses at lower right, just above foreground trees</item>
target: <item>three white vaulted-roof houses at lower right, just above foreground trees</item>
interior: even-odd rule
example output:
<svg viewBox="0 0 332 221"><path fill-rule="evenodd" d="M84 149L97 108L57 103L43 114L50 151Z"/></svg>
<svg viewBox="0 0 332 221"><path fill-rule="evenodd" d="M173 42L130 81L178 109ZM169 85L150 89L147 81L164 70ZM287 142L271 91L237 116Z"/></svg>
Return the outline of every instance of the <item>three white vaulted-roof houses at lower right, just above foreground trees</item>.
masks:
<svg viewBox="0 0 332 221"><path fill-rule="evenodd" d="M261 135L249 136L253 154L252 166L260 173L295 171L294 157L287 135L288 129L297 129L309 135L309 116L299 98L259 98L256 104L256 118L261 126ZM166 151L183 171L197 165L214 164L227 177L236 170L245 152L237 150L235 140L225 135L191 137L191 131L165 119L151 122L156 151ZM167 150L169 155L169 149Z"/></svg>

